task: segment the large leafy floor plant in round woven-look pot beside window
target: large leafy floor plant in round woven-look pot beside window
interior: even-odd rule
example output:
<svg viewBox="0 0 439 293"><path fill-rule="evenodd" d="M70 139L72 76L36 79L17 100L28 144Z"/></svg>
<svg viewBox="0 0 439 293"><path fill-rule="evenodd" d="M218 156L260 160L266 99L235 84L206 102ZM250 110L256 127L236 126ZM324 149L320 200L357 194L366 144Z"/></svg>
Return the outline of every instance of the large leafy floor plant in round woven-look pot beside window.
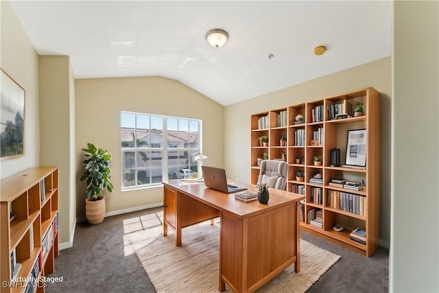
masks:
<svg viewBox="0 0 439 293"><path fill-rule="evenodd" d="M87 143L84 163L85 172L80 180L86 180L86 206L85 215L90 224L99 224L105 218L105 200L102 191L112 191L110 183L110 161L111 155L106 150L96 148L93 143Z"/></svg>

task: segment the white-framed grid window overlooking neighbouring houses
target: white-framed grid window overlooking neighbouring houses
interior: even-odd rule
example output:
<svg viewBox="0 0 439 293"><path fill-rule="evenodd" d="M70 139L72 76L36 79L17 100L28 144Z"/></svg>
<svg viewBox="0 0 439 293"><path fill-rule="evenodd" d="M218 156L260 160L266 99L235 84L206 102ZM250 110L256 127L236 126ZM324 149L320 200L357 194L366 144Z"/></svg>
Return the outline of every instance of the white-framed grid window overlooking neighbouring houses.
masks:
<svg viewBox="0 0 439 293"><path fill-rule="evenodd" d="M122 189L197 176L201 120L121 111Z"/></svg>

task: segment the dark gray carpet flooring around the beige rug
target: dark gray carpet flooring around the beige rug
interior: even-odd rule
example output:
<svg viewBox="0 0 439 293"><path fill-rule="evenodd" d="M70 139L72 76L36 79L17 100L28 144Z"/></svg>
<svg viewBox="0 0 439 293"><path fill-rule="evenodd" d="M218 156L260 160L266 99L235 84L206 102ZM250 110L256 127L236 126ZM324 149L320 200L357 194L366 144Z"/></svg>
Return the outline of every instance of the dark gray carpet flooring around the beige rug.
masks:
<svg viewBox="0 0 439 293"><path fill-rule="evenodd" d="M99 225L77 224L73 247L60 251L49 275L62 281L48 283L47 292L156 292L127 235L160 225L161 215L156 208L108 217ZM364 257L310 233L300 237L341 256L307 292L388 292L388 249Z"/></svg>

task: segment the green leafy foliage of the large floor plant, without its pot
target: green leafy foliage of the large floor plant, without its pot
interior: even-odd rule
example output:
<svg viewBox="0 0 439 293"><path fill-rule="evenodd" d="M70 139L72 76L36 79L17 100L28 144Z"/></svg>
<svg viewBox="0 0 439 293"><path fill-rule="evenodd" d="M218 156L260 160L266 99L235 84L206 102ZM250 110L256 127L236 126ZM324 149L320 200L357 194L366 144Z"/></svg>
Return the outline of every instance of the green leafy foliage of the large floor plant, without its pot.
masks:
<svg viewBox="0 0 439 293"><path fill-rule="evenodd" d="M87 148L82 149L88 158L84 163L85 172L81 176L81 181L87 180L86 197L90 200L102 198L102 191L106 188L109 192L113 187L110 183L110 161L111 155L106 150L96 148L93 143L87 143Z"/></svg>

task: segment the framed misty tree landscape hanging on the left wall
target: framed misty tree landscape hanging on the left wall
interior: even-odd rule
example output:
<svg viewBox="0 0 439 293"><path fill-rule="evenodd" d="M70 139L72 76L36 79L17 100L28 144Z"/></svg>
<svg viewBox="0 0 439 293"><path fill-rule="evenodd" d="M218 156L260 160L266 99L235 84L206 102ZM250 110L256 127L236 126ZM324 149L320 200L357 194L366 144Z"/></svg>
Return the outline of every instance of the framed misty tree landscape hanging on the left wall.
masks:
<svg viewBox="0 0 439 293"><path fill-rule="evenodd" d="M0 69L0 159L25 154L25 89Z"/></svg>

